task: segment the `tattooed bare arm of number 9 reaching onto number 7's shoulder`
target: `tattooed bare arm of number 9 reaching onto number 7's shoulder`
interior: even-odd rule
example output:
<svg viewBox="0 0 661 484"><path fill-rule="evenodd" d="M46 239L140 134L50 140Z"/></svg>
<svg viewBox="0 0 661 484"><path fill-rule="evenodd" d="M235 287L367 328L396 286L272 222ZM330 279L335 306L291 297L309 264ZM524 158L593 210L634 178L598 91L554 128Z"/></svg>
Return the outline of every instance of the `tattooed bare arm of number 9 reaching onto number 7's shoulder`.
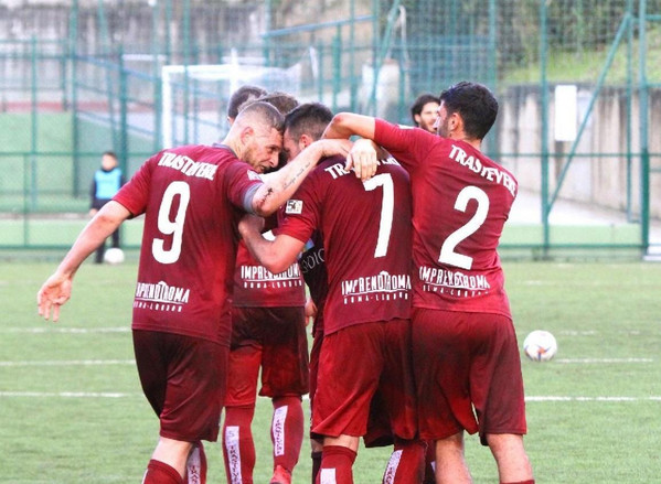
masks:
<svg viewBox="0 0 661 484"><path fill-rule="evenodd" d="M248 206L260 216L273 214L294 195L319 160L335 154L347 157L351 146L347 139L314 141L285 166L264 175L264 184L254 192Z"/></svg>

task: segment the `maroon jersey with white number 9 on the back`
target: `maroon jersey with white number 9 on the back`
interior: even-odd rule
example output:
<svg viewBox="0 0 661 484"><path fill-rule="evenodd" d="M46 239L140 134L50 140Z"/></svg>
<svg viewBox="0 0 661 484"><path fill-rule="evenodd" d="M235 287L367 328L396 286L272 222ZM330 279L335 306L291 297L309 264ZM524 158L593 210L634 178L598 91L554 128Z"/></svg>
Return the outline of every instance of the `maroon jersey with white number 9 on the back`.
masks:
<svg viewBox="0 0 661 484"><path fill-rule="evenodd" d="M259 175L226 147L161 151L114 200L145 214L132 327L230 344L244 198Z"/></svg>

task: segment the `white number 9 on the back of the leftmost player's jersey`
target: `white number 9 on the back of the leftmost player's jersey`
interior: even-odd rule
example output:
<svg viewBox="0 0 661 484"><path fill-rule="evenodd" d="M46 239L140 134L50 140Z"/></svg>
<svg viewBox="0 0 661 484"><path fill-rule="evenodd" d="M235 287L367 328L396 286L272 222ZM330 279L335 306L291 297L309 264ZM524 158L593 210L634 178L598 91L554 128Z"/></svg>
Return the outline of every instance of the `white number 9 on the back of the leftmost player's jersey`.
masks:
<svg viewBox="0 0 661 484"><path fill-rule="evenodd" d="M170 211L174 198L179 197L179 208L174 219L170 219ZM181 243L183 239L183 223L185 222L185 209L191 200L191 189L186 182L172 182L163 193L159 208L158 228L163 235L171 235L170 249L166 250L166 240L154 238L151 244L153 258L161 263L177 262L181 255Z"/></svg>

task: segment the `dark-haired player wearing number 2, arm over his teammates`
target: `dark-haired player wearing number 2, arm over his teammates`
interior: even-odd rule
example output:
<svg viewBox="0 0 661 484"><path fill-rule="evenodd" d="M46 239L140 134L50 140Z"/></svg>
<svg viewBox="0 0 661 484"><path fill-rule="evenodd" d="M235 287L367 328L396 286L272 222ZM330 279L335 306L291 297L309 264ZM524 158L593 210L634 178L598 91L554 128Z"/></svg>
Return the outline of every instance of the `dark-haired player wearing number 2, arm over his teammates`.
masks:
<svg viewBox="0 0 661 484"><path fill-rule="evenodd" d="M358 135L411 174L413 352L420 437L436 441L436 481L471 482L463 431L489 445L501 483L531 484L516 335L497 247L516 180L481 151L498 114L491 92L462 82L440 94L434 136L384 120L339 114L324 133ZM364 148L365 143L361 143ZM350 155L355 170L372 154Z"/></svg>

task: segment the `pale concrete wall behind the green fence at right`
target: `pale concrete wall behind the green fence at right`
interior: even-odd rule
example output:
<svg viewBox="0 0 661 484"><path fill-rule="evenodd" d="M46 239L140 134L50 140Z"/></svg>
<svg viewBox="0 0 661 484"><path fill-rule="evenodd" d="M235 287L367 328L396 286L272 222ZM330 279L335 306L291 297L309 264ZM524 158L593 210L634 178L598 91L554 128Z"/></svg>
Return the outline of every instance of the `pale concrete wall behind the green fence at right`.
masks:
<svg viewBox="0 0 661 484"><path fill-rule="evenodd" d="M584 122L594 93L578 88L577 126ZM499 152L501 161L514 172L521 189L539 192L541 190L542 115L541 94L534 86L510 87L500 96L501 114L498 123ZM661 137L654 136L654 126L661 126L661 89L652 89L649 98L650 119L648 126L649 150L661 152ZM627 92L625 88L606 87L599 93L583 133L578 139L574 158L562 183L558 197L585 202L588 204L627 209L627 185L631 186L631 208L640 209L640 119L639 97L631 101L631 140L633 153L627 158L628 115ZM572 151L573 142L554 140L555 105L553 88L550 95L548 151L550 192L556 190L563 166ZM661 166L659 157L650 161L652 166ZM630 172L628 182L627 173ZM661 218L661 173L650 174L650 214Z"/></svg>

